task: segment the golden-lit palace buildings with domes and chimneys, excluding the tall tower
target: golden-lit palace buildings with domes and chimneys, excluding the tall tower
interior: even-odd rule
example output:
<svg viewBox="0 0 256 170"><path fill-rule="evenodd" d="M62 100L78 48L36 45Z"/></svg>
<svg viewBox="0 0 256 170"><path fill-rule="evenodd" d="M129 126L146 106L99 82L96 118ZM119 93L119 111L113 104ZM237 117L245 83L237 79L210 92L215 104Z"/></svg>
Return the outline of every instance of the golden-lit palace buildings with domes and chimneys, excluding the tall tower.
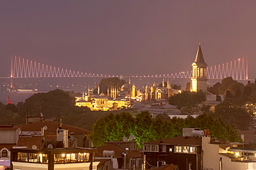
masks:
<svg viewBox="0 0 256 170"><path fill-rule="evenodd" d="M117 111L120 108L128 108L131 101L133 102L154 102L156 100L168 100L172 95L172 88L170 81L165 82L163 79L163 86L151 87L145 86L143 89L136 89L136 86L130 86L125 83L121 88L111 87L107 90L107 95L100 93L93 95L91 88L81 97L75 97L76 106L87 106L91 111Z"/></svg>

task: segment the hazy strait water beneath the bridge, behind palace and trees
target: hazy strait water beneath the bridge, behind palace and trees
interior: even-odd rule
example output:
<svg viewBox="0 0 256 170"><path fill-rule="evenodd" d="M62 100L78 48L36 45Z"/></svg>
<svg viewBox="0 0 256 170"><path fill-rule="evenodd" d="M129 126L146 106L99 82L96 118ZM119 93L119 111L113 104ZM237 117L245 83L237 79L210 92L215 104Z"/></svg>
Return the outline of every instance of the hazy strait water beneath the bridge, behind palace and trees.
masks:
<svg viewBox="0 0 256 170"><path fill-rule="evenodd" d="M25 100L35 93L43 93L53 91L56 88L60 88L64 91L75 91L82 93L87 91L88 86L98 85L102 78L27 78L27 79L15 79L14 84L19 88L37 89L37 92L12 92L1 91L0 102L6 104L7 95L14 104L18 102L25 102ZM129 78L125 78L126 82L129 82ZM165 82L167 79L165 79ZM154 83L161 84L163 78L131 78L131 84L135 84L136 88L143 87L145 85L152 86ZM182 89L185 89L186 84L190 82L190 79L170 79L171 84L181 85ZM221 79L208 79L208 86L213 86L215 83L221 82ZM242 83L247 84L247 81ZM10 84L8 81L1 82L1 84ZM3 88L3 85L2 85Z"/></svg>

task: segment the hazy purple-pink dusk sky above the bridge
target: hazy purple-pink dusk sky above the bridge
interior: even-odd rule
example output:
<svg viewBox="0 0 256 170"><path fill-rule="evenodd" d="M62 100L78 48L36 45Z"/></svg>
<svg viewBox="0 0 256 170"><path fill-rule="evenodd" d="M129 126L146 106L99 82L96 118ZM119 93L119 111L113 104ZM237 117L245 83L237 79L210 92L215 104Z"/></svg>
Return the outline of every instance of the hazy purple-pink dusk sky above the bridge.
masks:
<svg viewBox="0 0 256 170"><path fill-rule="evenodd" d="M248 56L256 78L256 1L3 1L0 76L10 57L87 73L191 70L201 42L208 66Z"/></svg>

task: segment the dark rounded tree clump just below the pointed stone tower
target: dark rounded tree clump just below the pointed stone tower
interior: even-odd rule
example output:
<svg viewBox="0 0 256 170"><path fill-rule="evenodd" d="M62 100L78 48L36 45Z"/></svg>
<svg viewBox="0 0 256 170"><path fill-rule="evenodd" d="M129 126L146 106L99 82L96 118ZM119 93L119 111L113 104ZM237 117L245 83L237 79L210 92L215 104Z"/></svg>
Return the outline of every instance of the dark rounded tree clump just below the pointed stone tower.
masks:
<svg viewBox="0 0 256 170"><path fill-rule="evenodd" d="M192 108L196 106L196 104L200 104L205 100L205 93L203 93L202 91L183 91L182 93L170 97L169 103L177 106L177 108L187 107L187 111L190 112L192 111Z"/></svg>

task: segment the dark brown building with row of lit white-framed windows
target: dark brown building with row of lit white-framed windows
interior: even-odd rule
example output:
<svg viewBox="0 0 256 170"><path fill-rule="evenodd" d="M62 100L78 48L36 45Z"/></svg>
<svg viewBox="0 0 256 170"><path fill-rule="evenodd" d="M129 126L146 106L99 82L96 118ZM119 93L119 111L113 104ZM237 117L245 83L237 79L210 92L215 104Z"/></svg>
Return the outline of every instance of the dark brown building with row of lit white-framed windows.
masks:
<svg viewBox="0 0 256 170"><path fill-rule="evenodd" d="M179 169L201 169L201 138L174 137L145 142L146 168L177 164Z"/></svg>

